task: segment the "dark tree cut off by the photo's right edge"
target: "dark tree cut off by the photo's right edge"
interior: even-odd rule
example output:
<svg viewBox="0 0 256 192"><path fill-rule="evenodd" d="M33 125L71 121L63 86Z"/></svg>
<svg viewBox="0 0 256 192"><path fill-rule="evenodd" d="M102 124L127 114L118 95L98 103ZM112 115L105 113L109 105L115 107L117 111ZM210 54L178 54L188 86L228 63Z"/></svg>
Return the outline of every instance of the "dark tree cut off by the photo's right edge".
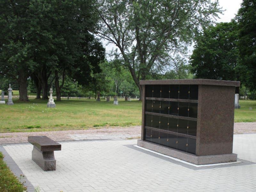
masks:
<svg viewBox="0 0 256 192"><path fill-rule="evenodd" d="M251 91L256 90L256 1L244 0L236 19L239 28L237 73Z"/></svg>

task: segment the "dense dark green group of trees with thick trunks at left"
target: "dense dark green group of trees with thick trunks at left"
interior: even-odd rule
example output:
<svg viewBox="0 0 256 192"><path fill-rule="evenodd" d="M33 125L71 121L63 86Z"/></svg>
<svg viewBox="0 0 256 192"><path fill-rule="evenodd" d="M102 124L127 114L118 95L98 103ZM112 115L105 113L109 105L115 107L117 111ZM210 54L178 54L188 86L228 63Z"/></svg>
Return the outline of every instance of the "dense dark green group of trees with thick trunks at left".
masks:
<svg viewBox="0 0 256 192"><path fill-rule="evenodd" d="M91 5L89 0L0 0L0 74L17 79L20 100L28 100L29 76L44 99L54 82L58 100L59 78L64 83L67 75L84 75L81 84L88 83L91 72L100 70L105 49L90 33L97 22Z"/></svg>

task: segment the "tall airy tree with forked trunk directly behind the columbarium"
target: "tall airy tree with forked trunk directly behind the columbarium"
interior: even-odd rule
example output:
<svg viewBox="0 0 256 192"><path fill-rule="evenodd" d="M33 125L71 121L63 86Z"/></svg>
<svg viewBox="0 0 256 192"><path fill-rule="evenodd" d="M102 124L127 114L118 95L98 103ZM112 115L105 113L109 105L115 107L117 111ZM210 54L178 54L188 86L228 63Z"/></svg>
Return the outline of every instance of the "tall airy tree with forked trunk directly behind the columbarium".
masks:
<svg viewBox="0 0 256 192"><path fill-rule="evenodd" d="M97 35L116 45L142 93L140 80L150 70L169 65L173 55L186 52L201 26L221 12L210 0L98 0L101 18Z"/></svg>

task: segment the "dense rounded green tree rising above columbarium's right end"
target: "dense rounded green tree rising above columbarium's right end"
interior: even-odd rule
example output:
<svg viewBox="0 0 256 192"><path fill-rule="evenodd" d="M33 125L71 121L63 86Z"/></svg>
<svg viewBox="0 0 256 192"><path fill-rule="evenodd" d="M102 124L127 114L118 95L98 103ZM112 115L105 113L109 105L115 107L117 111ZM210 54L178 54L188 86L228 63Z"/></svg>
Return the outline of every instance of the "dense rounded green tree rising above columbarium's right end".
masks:
<svg viewBox="0 0 256 192"><path fill-rule="evenodd" d="M237 80L237 39L237 23L234 20L204 28L203 34L195 38L196 44L190 57L196 78Z"/></svg>

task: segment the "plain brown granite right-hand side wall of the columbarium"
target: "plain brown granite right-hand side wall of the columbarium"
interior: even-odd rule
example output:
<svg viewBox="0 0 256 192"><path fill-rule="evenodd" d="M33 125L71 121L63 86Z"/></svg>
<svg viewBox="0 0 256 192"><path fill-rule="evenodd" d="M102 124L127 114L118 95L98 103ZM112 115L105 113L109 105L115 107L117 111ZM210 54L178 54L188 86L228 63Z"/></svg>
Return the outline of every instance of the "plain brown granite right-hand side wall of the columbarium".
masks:
<svg viewBox="0 0 256 192"><path fill-rule="evenodd" d="M199 85L196 155L231 154L236 87Z"/></svg>

